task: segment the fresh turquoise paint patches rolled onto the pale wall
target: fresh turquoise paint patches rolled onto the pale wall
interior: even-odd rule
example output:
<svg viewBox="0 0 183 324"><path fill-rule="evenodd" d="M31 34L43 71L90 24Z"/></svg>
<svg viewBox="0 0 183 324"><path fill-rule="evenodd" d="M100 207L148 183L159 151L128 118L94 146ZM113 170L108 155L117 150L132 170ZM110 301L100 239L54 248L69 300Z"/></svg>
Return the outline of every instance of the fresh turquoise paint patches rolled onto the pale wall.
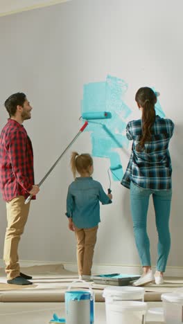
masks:
<svg viewBox="0 0 183 324"><path fill-rule="evenodd" d="M153 89L153 88L152 88ZM111 119L89 120L85 132L91 132L92 156L110 159L110 168L122 165L117 149L127 148L129 141L125 136L125 127L132 109L125 104L128 84L119 78L107 75L105 82L92 82L83 87L82 114L89 111L110 111ZM155 91L155 89L153 89ZM156 113L164 117L162 107L157 100ZM123 168L112 170L114 181L123 177Z"/></svg>

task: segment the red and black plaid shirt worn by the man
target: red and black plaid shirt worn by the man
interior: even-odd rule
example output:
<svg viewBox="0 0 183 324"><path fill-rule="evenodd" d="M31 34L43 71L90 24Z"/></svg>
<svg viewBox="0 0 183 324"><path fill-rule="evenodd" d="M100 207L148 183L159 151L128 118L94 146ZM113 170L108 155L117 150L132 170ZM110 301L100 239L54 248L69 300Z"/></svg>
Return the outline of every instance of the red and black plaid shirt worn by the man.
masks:
<svg viewBox="0 0 183 324"><path fill-rule="evenodd" d="M3 199L28 197L34 184L33 147L24 126L8 119L0 136L0 186Z"/></svg>

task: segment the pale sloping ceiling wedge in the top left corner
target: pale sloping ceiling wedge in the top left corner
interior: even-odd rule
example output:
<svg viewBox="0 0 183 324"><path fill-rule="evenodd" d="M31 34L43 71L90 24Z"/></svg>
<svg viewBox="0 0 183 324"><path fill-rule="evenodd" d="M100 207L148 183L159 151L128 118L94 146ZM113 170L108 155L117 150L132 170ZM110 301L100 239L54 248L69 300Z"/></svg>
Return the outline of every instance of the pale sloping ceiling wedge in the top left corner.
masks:
<svg viewBox="0 0 183 324"><path fill-rule="evenodd" d="M12 15L17 12L52 6L71 0L0 0L0 16Z"/></svg>

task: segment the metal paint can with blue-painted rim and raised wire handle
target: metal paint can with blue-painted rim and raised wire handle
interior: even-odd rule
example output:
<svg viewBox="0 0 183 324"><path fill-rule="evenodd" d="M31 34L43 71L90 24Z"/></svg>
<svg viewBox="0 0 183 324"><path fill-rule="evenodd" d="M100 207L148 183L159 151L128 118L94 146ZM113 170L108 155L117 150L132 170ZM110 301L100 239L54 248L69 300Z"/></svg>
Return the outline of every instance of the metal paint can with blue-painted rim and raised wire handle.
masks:
<svg viewBox="0 0 183 324"><path fill-rule="evenodd" d="M89 290L70 290L76 282L71 283L65 292L65 317L67 324L93 324L94 323L94 293ZM86 283L86 282L85 282Z"/></svg>

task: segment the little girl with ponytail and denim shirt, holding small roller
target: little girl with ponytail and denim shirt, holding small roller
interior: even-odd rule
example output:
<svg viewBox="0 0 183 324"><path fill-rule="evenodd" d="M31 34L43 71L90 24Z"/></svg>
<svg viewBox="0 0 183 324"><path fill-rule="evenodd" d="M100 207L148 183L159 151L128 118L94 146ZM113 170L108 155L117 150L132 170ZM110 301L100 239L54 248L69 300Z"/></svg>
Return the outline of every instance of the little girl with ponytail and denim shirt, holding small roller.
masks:
<svg viewBox="0 0 183 324"><path fill-rule="evenodd" d="M66 215L69 229L76 235L79 278L89 280L98 223L101 222L99 201L111 204L112 195L106 195L101 183L92 179L94 165L89 154L73 152L71 170L75 181L68 189ZM76 178L76 171L80 177Z"/></svg>

